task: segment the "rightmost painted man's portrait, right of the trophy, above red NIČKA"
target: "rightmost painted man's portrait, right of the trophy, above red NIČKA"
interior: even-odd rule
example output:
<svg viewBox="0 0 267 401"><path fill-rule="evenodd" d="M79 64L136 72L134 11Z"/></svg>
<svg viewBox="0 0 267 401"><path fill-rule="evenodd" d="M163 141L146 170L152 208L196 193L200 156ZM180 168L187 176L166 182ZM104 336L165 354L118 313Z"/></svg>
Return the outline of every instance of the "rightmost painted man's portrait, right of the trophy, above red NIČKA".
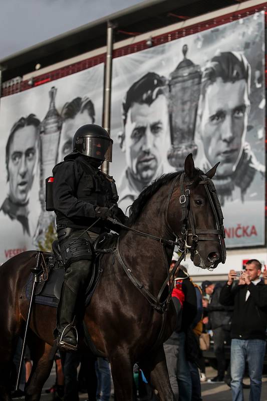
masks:
<svg viewBox="0 0 267 401"><path fill-rule="evenodd" d="M255 174L265 172L246 142L249 94L250 66L244 55L223 52L208 62L202 75L198 129L203 169L220 162L214 182L222 205L236 189L244 201Z"/></svg>

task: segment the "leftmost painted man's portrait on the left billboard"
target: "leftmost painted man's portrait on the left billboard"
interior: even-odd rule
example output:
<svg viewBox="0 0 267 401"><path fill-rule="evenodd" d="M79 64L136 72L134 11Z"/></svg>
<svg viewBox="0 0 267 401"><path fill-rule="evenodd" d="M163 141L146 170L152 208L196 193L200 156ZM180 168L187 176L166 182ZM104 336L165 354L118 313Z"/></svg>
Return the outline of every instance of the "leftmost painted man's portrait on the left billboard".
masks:
<svg viewBox="0 0 267 401"><path fill-rule="evenodd" d="M12 127L6 145L6 168L9 193L0 211L18 221L29 236L29 192L34 181L40 120L35 114L21 117Z"/></svg>

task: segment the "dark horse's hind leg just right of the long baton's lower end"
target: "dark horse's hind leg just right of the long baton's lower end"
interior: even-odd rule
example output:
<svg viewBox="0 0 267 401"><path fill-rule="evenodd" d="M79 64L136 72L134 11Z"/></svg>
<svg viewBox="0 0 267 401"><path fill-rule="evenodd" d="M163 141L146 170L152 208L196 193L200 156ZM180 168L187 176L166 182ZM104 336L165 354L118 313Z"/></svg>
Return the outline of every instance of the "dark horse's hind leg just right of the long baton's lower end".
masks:
<svg viewBox="0 0 267 401"><path fill-rule="evenodd" d="M30 378L25 386L25 400L39 401L42 388L49 377L54 359L50 352L52 346L32 333L29 341L33 367Z"/></svg>

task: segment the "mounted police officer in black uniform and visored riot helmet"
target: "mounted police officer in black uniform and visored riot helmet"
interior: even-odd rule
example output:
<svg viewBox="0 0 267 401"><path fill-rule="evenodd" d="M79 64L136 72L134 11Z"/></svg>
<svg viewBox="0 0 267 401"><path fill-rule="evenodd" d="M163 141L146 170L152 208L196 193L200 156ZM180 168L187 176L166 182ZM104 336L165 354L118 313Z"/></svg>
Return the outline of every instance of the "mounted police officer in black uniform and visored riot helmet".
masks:
<svg viewBox="0 0 267 401"><path fill-rule="evenodd" d="M83 125L74 135L73 152L53 169L57 234L66 270L55 332L57 345L66 350L77 349L74 321L92 273L93 244L109 231L108 217L121 223L126 219L117 206L114 179L99 169L104 160L112 161L112 144L101 126Z"/></svg>

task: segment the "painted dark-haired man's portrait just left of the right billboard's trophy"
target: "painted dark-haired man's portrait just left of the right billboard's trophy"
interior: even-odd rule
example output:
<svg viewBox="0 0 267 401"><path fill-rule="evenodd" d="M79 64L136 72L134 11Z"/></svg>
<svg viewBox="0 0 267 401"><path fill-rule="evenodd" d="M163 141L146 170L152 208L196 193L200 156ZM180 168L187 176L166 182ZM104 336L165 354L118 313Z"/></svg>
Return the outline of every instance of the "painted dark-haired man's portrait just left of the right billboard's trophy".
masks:
<svg viewBox="0 0 267 401"><path fill-rule="evenodd" d="M166 79L149 72L129 88L122 105L120 147L126 169L119 184L119 206L125 212L141 190L163 173L169 137Z"/></svg>

